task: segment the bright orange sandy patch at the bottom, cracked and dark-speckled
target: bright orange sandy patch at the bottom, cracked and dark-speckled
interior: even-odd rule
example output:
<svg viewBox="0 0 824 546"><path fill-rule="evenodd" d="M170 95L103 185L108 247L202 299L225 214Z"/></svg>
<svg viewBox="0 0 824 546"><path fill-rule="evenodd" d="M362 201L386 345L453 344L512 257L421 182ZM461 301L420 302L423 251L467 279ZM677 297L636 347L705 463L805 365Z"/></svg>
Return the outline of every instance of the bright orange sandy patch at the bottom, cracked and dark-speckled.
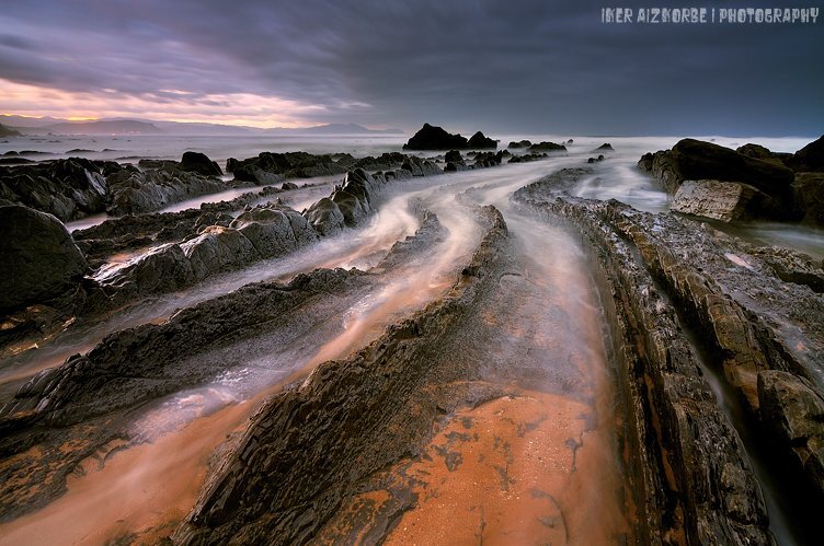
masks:
<svg viewBox="0 0 824 546"><path fill-rule="evenodd" d="M387 544L615 543L616 463L591 411L530 392L458 413L408 468L419 502Z"/></svg>

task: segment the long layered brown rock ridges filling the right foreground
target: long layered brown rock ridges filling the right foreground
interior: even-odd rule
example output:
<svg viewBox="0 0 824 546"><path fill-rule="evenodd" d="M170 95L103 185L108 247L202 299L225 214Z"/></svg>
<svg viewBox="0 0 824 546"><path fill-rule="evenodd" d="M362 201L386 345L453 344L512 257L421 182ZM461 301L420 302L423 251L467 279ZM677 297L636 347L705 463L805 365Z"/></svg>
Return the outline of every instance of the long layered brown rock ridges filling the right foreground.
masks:
<svg viewBox="0 0 824 546"><path fill-rule="evenodd" d="M649 527L644 542L770 542L743 445L680 324L697 334L708 364L757 423L754 433L768 439L776 464L791 469L785 479L792 510L813 524L814 507L824 502L821 264L674 214L557 197L546 183L516 194L584 234L611 292L608 314L625 339L620 386L634 421L627 441L639 456L632 479L644 499L638 504ZM788 275L802 268L806 276Z"/></svg>

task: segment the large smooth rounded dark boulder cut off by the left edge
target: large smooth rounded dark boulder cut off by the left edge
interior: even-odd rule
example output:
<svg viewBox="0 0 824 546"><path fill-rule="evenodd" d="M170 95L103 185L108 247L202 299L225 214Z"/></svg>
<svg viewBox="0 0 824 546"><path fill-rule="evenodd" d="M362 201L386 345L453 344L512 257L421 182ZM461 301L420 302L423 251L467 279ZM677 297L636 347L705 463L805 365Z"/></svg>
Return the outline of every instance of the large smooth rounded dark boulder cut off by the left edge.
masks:
<svg viewBox="0 0 824 546"><path fill-rule="evenodd" d="M0 207L0 311L62 295L88 266L54 216L19 205Z"/></svg>

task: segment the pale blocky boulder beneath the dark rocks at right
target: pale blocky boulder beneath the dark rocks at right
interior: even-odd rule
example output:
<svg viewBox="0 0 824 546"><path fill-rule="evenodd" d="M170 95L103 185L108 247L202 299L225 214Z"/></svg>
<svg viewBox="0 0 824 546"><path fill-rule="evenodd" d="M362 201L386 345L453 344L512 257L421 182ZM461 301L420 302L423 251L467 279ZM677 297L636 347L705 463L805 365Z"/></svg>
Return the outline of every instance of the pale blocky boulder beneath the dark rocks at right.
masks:
<svg viewBox="0 0 824 546"><path fill-rule="evenodd" d="M737 182L685 181L671 209L685 214L732 222L774 217L778 205L768 195Z"/></svg>

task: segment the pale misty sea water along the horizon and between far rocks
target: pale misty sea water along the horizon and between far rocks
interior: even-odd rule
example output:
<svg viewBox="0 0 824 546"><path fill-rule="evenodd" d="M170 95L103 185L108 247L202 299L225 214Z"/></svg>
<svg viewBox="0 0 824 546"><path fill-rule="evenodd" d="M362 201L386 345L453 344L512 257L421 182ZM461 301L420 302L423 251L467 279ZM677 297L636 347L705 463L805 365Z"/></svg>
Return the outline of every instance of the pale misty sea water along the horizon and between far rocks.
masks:
<svg viewBox="0 0 824 546"><path fill-rule="evenodd" d="M661 137L623 137L623 136L574 136L574 135L490 135L500 141L503 149L510 141L528 139L533 142L543 140L566 143L566 159L580 159L585 162L590 156L597 156L597 147L609 142L615 152L607 152L608 161L596 163L594 174L586 177L575 189L575 195L590 199L618 199L632 207L649 212L667 210L668 198L660 184L642 173L638 160L646 152L672 148L685 137L707 140L720 146L735 149L748 142L758 143L777 152L794 152L812 141L805 137L721 137L721 136L661 136ZM183 137L183 136L32 136L9 137L0 140L0 155L9 151L34 151L26 155L33 160L48 160L68 156L81 156L91 160L137 163L142 158L180 160L185 151L205 153L221 167L229 158L245 159L261 152L306 151L310 153L351 153L356 158L380 155L385 152L402 150L408 136L404 135L342 135L342 136L231 136L231 137ZM513 150L523 153L522 150ZM422 156L435 156L443 152L415 152ZM558 169L559 158L545 162L546 173ZM568 162L563 162L568 164ZM573 162L574 163L574 162ZM226 176L230 179L230 175ZM304 183L311 181L301 181ZM334 177L323 181L333 183ZM228 190L225 194L203 196L170 206L168 210L182 210L184 207L198 207L201 202L231 199L245 190ZM302 204L301 201L301 205ZM71 222L70 230L94 225L104 221L100 214ZM721 226L724 228L723 225ZM819 259L824 258L824 231L810 226L782 224L779 226L749 223L730 229L732 234L763 245L780 245L799 249Z"/></svg>

